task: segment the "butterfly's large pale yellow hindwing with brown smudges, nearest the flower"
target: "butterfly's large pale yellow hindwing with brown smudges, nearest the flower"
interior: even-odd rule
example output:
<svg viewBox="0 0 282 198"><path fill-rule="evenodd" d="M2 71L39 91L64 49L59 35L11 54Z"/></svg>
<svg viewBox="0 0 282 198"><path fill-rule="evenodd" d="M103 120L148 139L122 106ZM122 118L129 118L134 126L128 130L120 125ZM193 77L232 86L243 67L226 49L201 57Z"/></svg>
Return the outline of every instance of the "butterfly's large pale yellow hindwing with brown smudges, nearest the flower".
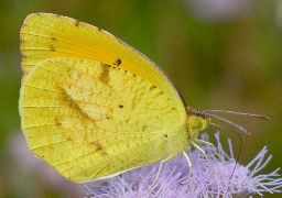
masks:
<svg viewBox="0 0 282 198"><path fill-rule="evenodd" d="M108 177L186 146L167 94L93 61L40 62L22 84L20 113L30 150L74 182Z"/></svg>

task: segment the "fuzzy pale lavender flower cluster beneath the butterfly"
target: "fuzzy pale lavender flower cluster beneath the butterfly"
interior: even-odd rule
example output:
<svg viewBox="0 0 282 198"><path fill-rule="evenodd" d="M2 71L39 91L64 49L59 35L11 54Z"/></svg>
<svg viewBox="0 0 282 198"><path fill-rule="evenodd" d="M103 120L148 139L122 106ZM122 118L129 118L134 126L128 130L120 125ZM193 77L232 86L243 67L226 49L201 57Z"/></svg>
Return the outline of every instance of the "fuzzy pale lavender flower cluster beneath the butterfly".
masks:
<svg viewBox="0 0 282 198"><path fill-rule="evenodd" d="M282 177L279 169L269 174L258 173L269 163L264 146L246 166L236 162L230 140L229 152L224 151L219 133L215 134L217 145L203 145L205 154L188 150L192 168L183 156L167 162L153 183L159 164L152 164L120 176L89 183L86 196L98 198L189 198L189 197L248 197L264 193L281 193ZM202 140L208 141L204 134ZM152 185L153 183L153 185Z"/></svg>

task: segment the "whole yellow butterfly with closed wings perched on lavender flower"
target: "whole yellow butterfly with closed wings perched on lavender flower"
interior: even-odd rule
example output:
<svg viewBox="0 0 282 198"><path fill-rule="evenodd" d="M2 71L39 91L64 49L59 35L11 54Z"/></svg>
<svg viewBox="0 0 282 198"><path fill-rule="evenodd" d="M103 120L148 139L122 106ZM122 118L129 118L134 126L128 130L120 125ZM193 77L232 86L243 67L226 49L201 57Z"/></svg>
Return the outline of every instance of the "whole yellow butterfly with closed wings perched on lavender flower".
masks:
<svg viewBox="0 0 282 198"><path fill-rule="evenodd" d="M73 182L111 177L198 147L208 117L110 33L51 13L21 29L21 127L30 150Z"/></svg>

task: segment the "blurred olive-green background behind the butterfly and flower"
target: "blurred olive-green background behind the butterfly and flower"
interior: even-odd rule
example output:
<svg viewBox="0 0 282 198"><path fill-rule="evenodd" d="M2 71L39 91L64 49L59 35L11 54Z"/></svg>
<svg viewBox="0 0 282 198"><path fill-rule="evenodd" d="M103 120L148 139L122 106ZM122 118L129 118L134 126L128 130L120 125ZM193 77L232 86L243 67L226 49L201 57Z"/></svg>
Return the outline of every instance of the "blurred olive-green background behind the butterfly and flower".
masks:
<svg viewBox="0 0 282 198"><path fill-rule="evenodd" d="M20 135L19 31L32 12L68 15L111 32L147 54L191 107L267 114L228 117L246 125L240 162L268 145L282 164L281 0L0 0L0 197L76 197L80 190L25 151ZM217 129L209 128L213 134ZM220 130L238 152L238 132ZM48 169L48 168L47 168ZM269 197L269 195L267 196Z"/></svg>

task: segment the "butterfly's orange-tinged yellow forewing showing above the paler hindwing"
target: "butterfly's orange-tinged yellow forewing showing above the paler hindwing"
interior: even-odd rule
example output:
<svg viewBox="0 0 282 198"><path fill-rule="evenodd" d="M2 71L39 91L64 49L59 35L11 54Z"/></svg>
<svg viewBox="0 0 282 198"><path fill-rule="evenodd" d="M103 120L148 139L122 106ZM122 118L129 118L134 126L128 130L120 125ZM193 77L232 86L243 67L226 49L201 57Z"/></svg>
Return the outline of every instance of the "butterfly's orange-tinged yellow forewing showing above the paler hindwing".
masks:
<svg viewBox="0 0 282 198"><path fill-rule="evenodd" d="M143 54L96 26L57 14L30 14L21 29L21 52L24 74L48 57L93 59L130 70L166 92L180 124L186 122L184 101L166 75Z"/></svg>

